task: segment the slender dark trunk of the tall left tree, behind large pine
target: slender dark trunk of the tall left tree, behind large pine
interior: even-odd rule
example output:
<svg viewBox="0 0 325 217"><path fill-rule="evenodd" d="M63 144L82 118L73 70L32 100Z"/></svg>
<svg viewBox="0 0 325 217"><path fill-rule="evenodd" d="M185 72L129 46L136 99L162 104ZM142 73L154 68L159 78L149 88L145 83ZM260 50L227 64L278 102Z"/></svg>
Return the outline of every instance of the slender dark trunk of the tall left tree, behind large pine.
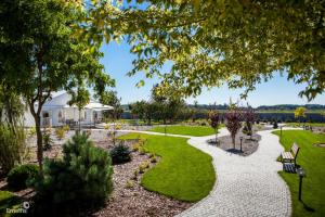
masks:
<svg viewBox="0 0 325 217"><path fill-rule="evenodd" d="M43 136L41 131L41 118L40 115L35 116L35 127L37 136L37 161L39 165L39 174L43 176Z"/></svg>

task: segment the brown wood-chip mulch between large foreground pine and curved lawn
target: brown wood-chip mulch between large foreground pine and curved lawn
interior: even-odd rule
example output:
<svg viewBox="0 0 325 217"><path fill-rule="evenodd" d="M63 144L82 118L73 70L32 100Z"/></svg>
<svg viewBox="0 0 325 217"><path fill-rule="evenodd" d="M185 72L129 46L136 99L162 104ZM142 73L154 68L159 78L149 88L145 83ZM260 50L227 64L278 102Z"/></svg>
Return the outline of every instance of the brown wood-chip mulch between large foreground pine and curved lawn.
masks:
<svg viewBox="0 0 325 217"><path fill-rule="evenodd" d="M141 175L132 180L134 170L140 164L150 161L147 155L132 153L132 161L114 166L114 191L106 206L93 216L174 216L192 206L192 203L180 202L145 190L141 184ZM151 167L154 164L151 164ZM133 186L127 187L132 180Z"/></svg>

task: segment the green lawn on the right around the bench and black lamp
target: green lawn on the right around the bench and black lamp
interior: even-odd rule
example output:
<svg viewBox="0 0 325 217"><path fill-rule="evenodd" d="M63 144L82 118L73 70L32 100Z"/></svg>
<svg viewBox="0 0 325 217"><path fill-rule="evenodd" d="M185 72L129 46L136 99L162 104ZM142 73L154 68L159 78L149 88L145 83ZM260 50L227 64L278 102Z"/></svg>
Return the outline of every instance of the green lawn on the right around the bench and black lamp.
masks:
<svg viewBox="0 0 325 217"><path fill-rule="evenodd" d="M274 133L280 136L280 131ZM325 143L325 135L284 130L280 141L286 150L289 150L294 142L300 146L297 164L301 165L307 173L302 184L303 203L298 201L298 175L280 173L290 188L294 203L292 216L325 216L325 148L313 146L316 142Z"/></svg>

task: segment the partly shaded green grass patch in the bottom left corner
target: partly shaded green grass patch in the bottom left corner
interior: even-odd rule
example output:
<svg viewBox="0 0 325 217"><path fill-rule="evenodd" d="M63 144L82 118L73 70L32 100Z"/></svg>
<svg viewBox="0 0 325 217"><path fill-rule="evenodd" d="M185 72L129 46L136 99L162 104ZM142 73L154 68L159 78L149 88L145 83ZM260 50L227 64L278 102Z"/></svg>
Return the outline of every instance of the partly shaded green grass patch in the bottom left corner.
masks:
<svg viewBox="0 0 325 217"><path fill-rule="evenodd" d="M6 208L20 208L21 199L9 191L0 191L0 216L9 217L14 214L6 214Z"/></svg>

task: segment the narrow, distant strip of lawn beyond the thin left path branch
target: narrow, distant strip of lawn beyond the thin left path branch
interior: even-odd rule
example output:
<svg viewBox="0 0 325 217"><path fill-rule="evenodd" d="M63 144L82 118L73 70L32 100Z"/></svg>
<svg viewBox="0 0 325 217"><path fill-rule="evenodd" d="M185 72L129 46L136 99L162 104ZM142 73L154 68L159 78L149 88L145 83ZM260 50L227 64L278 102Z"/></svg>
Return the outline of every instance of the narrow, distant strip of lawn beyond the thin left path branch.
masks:
<svg viewBox="0 0 325 217"><path fill-rule="evenodd" d="M165 127L154 127L150 131L165 133ZM185 135L194 137L214 135L214 130L207 126L167 126L166 132L171 135Z"/></svg>

